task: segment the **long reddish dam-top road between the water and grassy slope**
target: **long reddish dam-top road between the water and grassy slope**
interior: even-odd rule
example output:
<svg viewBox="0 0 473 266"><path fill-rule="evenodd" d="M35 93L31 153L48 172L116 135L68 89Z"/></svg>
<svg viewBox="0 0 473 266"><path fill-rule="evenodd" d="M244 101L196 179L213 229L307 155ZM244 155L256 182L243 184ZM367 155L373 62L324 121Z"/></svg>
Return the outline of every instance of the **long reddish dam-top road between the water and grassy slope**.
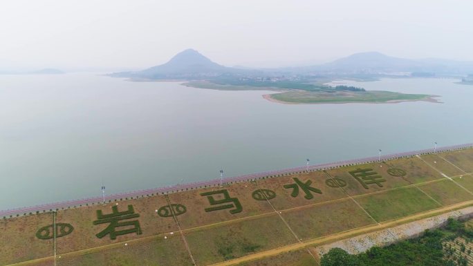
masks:
<svg viewBox="0 0 473 266"><path fill-rule="evenodd" d="M427 154L427 153L443 152L443 151L453 151L453 150L467 149L467 148L472 148L472 147L473 147L473 143L439 147L436 149L436 151L434 151L434 149L409 151L405 153L382 155L380 157L380 160L381 161L393 160L393 159L398 159L398 158L410 157L414 155L422 155L422 154ZM203 187L215 187L215 186L219 186L221 182L223 182L223 184L231 184L235 182L244 182L244 181L257 180L257 179L262 179L262 178L273 178L273 177L277 177L281 175L288 175L291 173L299 173L299 172L307 171L307 169L308 171L320 171L324 169L333 169L333 168L344 167L344 166L353 165L353 164L365 164L369 162L378 162L378 160L379 160L378 156L375 156L375 157L361 158L361 159L355 159L355 160L331 162L331 163L326 163L326 164L315 164L315 165L309 165L308 167L307 166L294 167L294 168L282 169L282 170L277 170L277 171L267 171L267 172L261 172L261 173L252 173L249 175L239 175L239 176L234 176L234 177L223 178L222 181L220 180L220 178L217 178L214 180L207 180L207 181L202 181L202 182L191 182L187 184L176 184L173 186L160 187L156 189L143 189L143 190L131 191L127 193L116 193L116 194L111 194L109 196L105 196L105 202L115 202L118 200L129 200L129 199L140 198L140 197L144 198L146 196L163 195L166 193L174 193L174 192L186 191L190 189L199 189ZM14 216L35 214L35 213L41 213L41 212L46 212L46 211L55 211L59 209L69 209L71 207L95 205L95 204L100 204L102 202L103 202L102 197L93 197L93 198L84 198L81 200L68 200L64 202L55 202L55 203L44 204L44 205L35 205L32 207L23 207L23 208L18 208L18 209L7 209L4 211L0 211L0 218L2 217L10 218Z"/></svg>

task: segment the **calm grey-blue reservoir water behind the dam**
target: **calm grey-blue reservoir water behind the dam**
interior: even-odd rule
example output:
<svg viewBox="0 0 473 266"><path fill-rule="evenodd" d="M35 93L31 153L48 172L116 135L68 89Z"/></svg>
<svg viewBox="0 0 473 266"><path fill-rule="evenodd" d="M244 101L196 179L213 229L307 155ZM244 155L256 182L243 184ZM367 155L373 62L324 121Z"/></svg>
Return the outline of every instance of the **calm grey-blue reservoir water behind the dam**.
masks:
<svg viewBox="0 0 473 266"><path fill-rule="evenodd" d="M264 91L0 75L0 209L473 142L473 86L347 82L443 104L276 104Z"/></svg>

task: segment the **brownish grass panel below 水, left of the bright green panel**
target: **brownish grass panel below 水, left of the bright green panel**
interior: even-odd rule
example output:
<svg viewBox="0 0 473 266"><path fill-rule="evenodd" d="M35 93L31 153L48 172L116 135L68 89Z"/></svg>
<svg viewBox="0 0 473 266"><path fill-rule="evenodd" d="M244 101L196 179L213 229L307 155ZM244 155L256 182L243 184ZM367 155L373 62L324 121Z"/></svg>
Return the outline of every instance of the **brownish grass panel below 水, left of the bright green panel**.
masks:
<svg viewBox="0 0 473 266"><path fill-rule="evenodd" d="M351 199L282 211L281 215L302 240L335 234L374 223L367 213Z"/></svg>

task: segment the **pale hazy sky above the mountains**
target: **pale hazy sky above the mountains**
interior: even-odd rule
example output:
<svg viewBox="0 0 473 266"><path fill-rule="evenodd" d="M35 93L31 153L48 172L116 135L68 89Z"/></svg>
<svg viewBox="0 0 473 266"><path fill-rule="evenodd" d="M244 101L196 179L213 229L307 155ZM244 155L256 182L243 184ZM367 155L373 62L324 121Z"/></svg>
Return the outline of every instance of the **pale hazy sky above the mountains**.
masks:
<svg viewBox="0 0 473 266"><path fill-rule="evenodd" d="M472 0L3 0L0 70L145 68L186 48L225 66L473 60L472 14Z"/></svg>

